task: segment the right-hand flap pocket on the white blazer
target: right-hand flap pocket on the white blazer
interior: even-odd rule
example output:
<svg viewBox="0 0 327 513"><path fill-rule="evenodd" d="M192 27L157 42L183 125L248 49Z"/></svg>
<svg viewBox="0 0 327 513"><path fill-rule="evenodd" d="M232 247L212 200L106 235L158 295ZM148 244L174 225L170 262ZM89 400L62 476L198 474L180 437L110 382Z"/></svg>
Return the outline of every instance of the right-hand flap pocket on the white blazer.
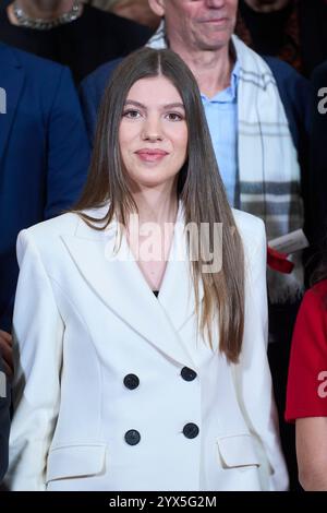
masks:
<svg viewBox="0 0 327 513"><path fill-rule="evenodd" d="M219 437L217 445L222 468L261 466L251 434Z"/></svg>

